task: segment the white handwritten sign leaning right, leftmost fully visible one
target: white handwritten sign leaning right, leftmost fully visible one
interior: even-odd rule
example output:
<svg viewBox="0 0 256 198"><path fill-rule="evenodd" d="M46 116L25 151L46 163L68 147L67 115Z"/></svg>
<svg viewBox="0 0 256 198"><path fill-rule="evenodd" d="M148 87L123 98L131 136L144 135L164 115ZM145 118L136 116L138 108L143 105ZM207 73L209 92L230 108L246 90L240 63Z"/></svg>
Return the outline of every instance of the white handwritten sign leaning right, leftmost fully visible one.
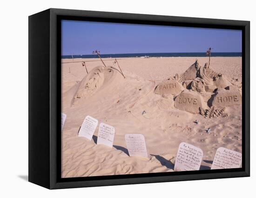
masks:
<svg viewBox="0 0 256 198"><path fill-rule="evenodd" d="M81 125L81 128L79 130L78 136L85 137L89 140L93 138L94 131L98 125L98 120L91 117L91 116L86 116L83 124Z"/></svg>

